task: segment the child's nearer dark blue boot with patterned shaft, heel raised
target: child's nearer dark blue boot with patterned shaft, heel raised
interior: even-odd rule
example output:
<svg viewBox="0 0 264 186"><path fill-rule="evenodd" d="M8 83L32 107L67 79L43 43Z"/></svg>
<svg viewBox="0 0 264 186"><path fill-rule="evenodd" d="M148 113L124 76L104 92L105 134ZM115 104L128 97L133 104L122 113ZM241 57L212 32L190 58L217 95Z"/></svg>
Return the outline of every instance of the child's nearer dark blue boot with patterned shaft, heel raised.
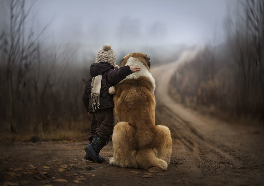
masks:
<svg viewBox="0 0 264 186"><path fill-rule="evenodd" d="M106 144L106 141L100 136L95 135L91 144L84 147L85 152L94 160L96 163L102 163L99 152Z"/></svg>

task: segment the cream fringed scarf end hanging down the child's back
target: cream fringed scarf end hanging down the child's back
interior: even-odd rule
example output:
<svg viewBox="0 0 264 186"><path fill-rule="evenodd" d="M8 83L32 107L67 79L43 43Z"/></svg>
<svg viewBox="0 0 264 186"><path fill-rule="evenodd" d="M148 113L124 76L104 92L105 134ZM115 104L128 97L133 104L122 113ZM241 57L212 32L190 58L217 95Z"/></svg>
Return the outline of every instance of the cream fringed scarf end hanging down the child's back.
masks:
<svg viewBox="0 0 264 186"><path fill-rule="evenodd" d="M92 86L91 98L93 98L92 109L98 109L100 105L99 95L101 90L101 81L102 81L102 74L93 77L92 79L92 84L91 84Z"/></svg>

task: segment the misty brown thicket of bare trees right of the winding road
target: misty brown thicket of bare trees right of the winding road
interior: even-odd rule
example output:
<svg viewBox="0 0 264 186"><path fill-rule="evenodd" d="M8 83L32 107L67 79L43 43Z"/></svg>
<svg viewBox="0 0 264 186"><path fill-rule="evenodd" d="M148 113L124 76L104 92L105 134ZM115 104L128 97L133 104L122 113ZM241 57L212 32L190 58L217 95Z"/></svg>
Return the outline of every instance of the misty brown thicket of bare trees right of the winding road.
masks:
<svg viewBox="0 0 264 186"><path fill-rule="evenodd" d="M225 20L227 39L206 46L171 79L170 94L197 108L264 120L264 1L241 1Z"/></svg>

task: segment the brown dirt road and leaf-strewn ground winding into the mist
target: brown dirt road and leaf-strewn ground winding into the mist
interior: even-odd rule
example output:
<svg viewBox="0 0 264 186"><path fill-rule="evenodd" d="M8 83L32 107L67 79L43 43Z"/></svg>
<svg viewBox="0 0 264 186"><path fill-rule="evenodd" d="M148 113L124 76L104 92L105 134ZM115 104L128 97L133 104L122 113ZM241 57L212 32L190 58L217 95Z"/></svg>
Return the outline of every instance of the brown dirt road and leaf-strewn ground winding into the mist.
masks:
<svg viewBox="0 0 264 186"><path fill-rule="evenodd" d="M200 116L168 96L171 74L196 52L151 68L156 123L166 124L175 135L168 171L148 175L109 165L111 142L100 152L106 158L102 164L83 159L87 141L16 142L0 145L0 185L264 185L263 128Z"/></svg>

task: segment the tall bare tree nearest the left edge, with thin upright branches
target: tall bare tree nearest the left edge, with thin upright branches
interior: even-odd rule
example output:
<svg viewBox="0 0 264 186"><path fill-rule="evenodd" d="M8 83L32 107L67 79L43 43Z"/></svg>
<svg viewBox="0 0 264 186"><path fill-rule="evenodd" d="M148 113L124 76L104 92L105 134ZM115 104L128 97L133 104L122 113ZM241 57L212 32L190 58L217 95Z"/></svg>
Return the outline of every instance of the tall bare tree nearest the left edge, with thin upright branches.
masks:
<svg viewBox="0 0 264 186"><path fill-rule="evenodd" d="M17 122L21 122L15 121L16 101L25 84L25 75L34 60L33 53L36 51L33 31L31 30L27 36L25 33L25 21L34 3L27 10L24 0L11 0L8 3L10 30L5 35L5 49L7 50L5 78L8 90L10 130L16 132Z"/></svg>

